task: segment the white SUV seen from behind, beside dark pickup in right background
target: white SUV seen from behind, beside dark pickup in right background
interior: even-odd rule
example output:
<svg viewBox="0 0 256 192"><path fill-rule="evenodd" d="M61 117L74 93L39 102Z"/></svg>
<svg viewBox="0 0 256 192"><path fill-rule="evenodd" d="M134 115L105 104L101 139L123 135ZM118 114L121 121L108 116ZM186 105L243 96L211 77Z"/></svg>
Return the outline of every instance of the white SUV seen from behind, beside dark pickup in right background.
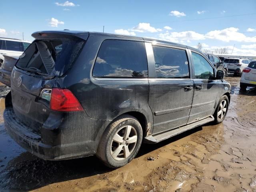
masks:
<svg viewBox="0 0 256 192"><path fill-rule="evenodd" d="M241 76L242 71L251 61L249 59L227 58L224 64L228 66L228 72L234 73L234 76Z"/></svg>

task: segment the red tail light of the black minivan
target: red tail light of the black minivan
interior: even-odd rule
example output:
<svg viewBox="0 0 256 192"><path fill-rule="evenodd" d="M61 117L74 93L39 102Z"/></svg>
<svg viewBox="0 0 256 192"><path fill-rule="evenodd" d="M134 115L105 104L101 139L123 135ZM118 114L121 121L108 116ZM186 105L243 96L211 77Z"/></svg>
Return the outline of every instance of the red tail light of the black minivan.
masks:
<svg viewBox="0 0 256 192"><path fill-rule="evenodd" d="M84 110L70 90L60 88L53 88L51 91L50 109L62 112Z"/></svg>

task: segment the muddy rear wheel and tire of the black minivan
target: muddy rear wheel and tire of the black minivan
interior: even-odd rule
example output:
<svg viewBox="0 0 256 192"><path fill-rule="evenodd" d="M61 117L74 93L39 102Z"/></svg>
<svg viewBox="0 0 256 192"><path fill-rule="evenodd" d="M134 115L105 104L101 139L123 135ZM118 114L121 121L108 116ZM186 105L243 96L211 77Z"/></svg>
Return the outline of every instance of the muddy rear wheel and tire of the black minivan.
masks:
<svg viewBox="0 0 256 192"><path fill-rule="evenodd" d="M136 156L142 137L139 121L133 116L122 115L106 128L96 156L110 168L122 167Z"/></svg>

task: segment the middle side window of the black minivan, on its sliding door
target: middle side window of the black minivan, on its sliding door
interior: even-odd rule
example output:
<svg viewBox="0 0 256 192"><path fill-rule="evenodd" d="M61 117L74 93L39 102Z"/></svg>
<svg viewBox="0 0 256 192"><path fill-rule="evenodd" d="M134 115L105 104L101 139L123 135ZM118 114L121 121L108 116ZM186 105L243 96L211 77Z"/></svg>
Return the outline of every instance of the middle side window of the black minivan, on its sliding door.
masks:
<svg viewBox="0 0 256 192"><path fill-rule="evenodd" d="M157 78L189 78L188 58L185 50L152 47Z"/></svg>

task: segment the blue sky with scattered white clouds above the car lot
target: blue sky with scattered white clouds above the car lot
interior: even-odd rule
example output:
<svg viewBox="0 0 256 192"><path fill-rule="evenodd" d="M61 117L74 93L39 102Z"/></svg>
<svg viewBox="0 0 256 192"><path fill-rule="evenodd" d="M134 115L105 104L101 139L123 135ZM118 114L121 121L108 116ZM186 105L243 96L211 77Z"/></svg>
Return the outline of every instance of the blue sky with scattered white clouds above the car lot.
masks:
<svg viewBox="0 0 256 192"><path fill-rule="evenodd" d="M82 30L256 56L256 0L0 0L0 37ZM234 48L234 49L233 49Z"/></svg>

